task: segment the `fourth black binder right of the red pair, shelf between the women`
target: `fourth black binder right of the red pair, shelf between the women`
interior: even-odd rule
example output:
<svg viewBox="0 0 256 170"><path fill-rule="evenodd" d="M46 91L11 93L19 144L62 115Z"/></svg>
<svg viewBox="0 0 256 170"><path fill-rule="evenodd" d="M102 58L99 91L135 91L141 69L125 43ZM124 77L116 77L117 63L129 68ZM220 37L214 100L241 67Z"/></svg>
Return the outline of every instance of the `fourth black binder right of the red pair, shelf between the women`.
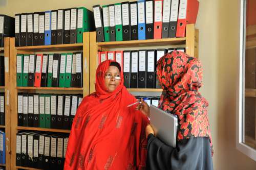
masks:
<svg viewBox="0 0 256 170"><path fill-rule="evenodd" d="M147 88L155 88L155 63L156 53L155 50L147 51Z"/></svg>

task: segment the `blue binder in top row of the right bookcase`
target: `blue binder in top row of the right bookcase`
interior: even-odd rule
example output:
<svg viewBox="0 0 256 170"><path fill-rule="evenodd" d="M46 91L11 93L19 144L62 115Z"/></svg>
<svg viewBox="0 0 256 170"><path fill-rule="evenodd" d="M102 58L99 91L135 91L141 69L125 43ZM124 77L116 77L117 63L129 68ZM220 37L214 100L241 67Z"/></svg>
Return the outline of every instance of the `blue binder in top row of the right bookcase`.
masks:
<svg viewBox="0 0 256 170"><path fill-rule="evenodd" d="M146 39L146 24L145 24L145 1L138 1L138 39ZM142 22L143 21L143 22Z"/></svg>

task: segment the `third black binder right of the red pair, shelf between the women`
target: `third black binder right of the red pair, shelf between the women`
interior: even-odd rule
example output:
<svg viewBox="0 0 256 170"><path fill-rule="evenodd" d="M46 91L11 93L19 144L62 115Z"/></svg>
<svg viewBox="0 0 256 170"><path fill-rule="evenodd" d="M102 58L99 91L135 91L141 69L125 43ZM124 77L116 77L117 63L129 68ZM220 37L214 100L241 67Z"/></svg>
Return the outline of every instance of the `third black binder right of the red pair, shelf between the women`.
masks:
<svg viewBox="0 0 256 170"><path fill-rule="evenodd" d="M147 69L147 57L146 50L139 51L139 76L138 76L138 88L146 88L146 69Z"/></svg>

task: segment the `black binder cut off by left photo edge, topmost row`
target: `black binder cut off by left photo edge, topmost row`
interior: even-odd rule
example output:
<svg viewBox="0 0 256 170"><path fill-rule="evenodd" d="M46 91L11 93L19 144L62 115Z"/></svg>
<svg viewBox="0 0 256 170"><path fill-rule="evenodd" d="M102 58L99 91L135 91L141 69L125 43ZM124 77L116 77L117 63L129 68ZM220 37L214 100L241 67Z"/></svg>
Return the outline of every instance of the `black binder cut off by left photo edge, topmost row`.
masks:
<svg viewBox="0 0 256 170"><path fill-rule="evenodd" d="M5 37L14 37L15 19L7 15L0 15L0 47L4 47Z"/></svg>

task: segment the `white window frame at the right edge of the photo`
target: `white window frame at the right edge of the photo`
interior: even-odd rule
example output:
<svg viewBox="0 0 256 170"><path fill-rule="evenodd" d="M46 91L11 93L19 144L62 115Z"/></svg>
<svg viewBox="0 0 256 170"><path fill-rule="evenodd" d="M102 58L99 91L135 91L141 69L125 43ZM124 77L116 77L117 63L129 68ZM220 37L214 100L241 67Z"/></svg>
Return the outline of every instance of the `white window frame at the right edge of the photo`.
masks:
<svg viewBox="0 0 256 170"><path fill-rule="evenodd" d="M246 0L240 3L240 37L239 37L239 98L237 98L237 135L236 146L243 154L256 161L256 150L244 143L244 97L245 97L245 31L246 31Z"/></svg>

